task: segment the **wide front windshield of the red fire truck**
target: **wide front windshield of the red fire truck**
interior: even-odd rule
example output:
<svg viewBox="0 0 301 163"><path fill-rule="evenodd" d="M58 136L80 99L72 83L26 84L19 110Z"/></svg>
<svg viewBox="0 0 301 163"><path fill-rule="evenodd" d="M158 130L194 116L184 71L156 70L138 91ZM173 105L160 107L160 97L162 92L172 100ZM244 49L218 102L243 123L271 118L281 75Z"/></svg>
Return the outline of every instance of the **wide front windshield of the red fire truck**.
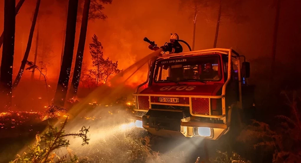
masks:
<svg viewBox="0 0 301 163"><path fill-rule="evenodd" d="M222 79L218 55L162 59L157 62L155 82L219 81Z"/></svg>

